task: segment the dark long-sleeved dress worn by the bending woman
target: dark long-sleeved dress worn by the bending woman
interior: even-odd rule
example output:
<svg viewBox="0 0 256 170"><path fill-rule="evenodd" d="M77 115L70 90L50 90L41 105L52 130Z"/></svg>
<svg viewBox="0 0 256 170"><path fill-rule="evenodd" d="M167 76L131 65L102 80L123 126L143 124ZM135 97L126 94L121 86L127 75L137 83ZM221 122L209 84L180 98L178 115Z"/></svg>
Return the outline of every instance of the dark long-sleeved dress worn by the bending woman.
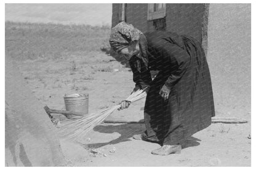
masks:
<svg viewBox="0 0 256 170"><path fill-rule="evenodd" d="M143 36L145 35L145 36ZM144 137L164 145L181 144L192 134L207 128L215 116L212 84L201 44L192 37L154 31L145 33L148 69L142 63L134 72L135 89L148 88ZM132 62L132 61L130 61ZM159 73L151 80L150 70ZM170 89L168 101L159 95Z"/></svg>

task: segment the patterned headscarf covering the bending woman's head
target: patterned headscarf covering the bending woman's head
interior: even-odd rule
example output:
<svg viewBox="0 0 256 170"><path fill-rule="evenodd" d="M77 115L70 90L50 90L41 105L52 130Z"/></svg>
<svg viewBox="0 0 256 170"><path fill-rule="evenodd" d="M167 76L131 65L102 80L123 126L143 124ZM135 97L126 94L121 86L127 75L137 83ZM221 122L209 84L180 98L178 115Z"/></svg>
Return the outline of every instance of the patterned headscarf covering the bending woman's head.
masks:
<svg viewBox="0 0 256 170"><path fill-rule="evenodd" d="M132 44L132 42L138 41L140 34L142 34L142 32L134 28L133 25L121 21L121 23L118 23L118 25L111 29L110 45L115 52L119 52Z"/></svg>

